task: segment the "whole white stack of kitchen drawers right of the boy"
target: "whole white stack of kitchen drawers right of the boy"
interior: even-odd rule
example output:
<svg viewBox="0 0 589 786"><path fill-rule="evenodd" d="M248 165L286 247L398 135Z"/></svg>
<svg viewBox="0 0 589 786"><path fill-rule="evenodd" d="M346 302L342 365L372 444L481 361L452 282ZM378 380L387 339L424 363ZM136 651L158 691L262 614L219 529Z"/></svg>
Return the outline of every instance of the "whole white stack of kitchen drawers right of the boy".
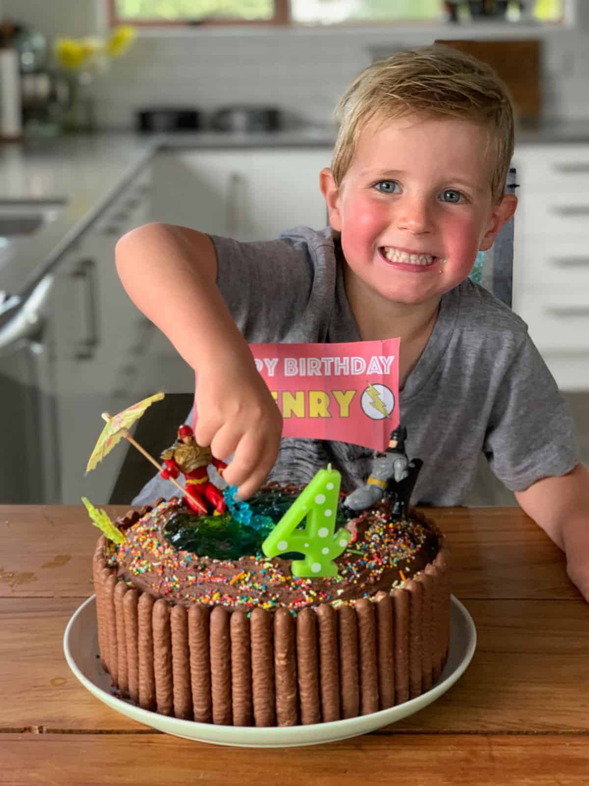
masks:
<svg viewBox="0 0 589 786"><path fill-rule="evenodd" d="M514 311L565 391L589 389L589 143L516 149Z"/></svg>

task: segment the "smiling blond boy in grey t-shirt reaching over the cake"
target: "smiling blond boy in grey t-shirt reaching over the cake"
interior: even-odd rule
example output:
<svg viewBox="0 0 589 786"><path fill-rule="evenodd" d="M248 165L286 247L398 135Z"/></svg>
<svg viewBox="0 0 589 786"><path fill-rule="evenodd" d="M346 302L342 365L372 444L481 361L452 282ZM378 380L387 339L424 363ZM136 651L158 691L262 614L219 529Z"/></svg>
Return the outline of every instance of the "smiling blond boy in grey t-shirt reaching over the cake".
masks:
<svg viewBox="0 0 589 786"><path fill-rule="evenodd" d="M304 483L328 461L353 490L372 451L280 443L247 343L400 336L401 422L408 456L424 461L412 503L460 505L482 450L589 600L589 483L571 417L525 323L467 278L517 204L504 193L514 122L503 83L432 46L367 68L337 111L320 173L327 229L239 243L153 223L117 245L131 299L198 374L196 441L234 454L224 478L243 498L271 470Z"/></svg>

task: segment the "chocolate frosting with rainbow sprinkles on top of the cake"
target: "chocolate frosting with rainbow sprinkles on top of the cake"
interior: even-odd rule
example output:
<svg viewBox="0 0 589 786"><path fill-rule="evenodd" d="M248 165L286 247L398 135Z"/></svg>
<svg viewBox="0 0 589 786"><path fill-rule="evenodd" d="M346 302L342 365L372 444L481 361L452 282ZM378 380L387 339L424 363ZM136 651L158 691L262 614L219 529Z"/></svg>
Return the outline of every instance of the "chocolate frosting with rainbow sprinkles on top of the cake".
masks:
<svg viewBox="0 0 589 786"><path fill-rule="evenodd" d="M346 523L353 535L335 560L335 578L296 578L291 560L280 557L223 561L177 550L167 542L164 530L179 510L184 510L184 503L174 498L148 509L138 520L136 513L119 520L119 526L126 527L126 543L109 542L105 556L116 568L117 578L155 599L185 606L202 603L247 612L280 607L297 612L323 603L337 608L403 586L438 551L435 527L415 512L411 521L395 520L385 502Z"/></svg>

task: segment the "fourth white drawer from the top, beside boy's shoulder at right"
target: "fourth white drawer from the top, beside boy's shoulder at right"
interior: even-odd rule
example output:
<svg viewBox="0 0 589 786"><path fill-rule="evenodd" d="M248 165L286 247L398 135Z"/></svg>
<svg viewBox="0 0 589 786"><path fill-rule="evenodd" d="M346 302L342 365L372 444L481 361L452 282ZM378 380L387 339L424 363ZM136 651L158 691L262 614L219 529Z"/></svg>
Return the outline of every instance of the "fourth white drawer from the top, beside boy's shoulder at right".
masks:
<svg viewBox="0 0 589 786"><path fill-rule="evenodd" d="M514 311L528 323L541 354L589 354L589 286L526 286L514 292Z"/></svg>

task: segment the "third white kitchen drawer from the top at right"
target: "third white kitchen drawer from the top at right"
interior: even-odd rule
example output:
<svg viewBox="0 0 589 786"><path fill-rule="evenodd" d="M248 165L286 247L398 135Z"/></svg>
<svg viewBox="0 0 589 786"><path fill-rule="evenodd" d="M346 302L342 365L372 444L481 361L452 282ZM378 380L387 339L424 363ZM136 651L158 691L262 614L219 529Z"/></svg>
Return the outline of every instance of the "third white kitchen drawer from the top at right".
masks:
<svg viewBox="0 0 589 786"><path fill-rule="evenodd" d="M521 254L514 257L514 288L524 285L589 287L589 233L587 241L521 238ZM525 256L524 256L525 254Z"/></svg>

